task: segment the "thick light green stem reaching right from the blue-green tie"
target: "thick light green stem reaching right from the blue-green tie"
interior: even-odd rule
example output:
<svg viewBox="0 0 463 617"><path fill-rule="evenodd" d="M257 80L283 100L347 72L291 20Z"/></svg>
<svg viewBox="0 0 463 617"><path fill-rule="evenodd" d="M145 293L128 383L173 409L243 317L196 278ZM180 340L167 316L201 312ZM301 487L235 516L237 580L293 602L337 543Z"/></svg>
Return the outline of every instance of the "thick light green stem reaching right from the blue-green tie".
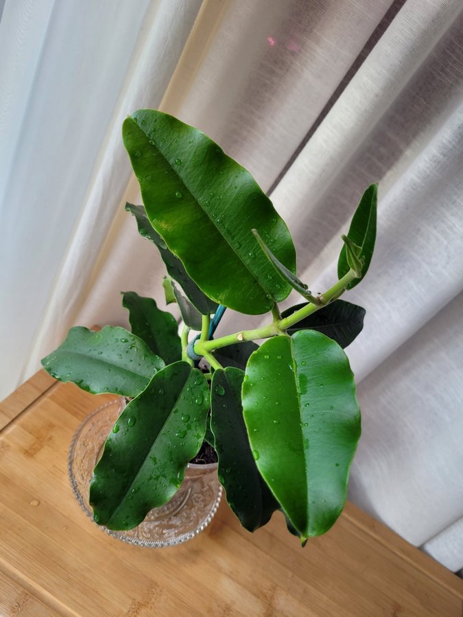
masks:
<svg viewBox="0 0 463 617"><path fill-rule="evenodd" d="M305 317L308 317L312 313L318 311L318 309L321 309L322 306L328 304L331 300L333 300L333 298L339 298L346 289L346 285L348 285L348 283L350 283L354 278L357 278L355 272L353 270L349 270L347 274L345 274L340 280L337 281L337 283L335 283L335 285L333 285L333 287L330 287L330 289L325 291L320 296L320 304L312 304L309 302L309 304L303 306L302 309L299 309L292 315L289 315L289 317L285 317L285 319L278 319L276 321L274 320L271 324L268 324L268 326L263 326L263 328L256 328L255 330L242 330L241 332L235 332L233 335L228 335L226 337L216 339L215 341L200 339L195 343L195 352L204 356L204 358L210 362L209 358L206 357L206 354L210 356L210 352L215 349L233 345L233 343L255 341L257 339L268 339L275 335L279 335L291 326L294 326L294 324L297 324L297 322L305 319ZM272 314L275 317L273 311Z"/></svg>

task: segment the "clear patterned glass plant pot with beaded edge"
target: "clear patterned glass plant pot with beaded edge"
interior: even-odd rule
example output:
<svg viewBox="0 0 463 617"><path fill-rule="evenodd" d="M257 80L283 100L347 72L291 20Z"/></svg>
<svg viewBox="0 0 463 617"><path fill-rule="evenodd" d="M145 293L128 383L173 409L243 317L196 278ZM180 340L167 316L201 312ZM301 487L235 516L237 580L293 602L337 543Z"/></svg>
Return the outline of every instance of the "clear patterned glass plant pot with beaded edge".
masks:
<svg viewBox="0 0 463 617"><path fill-rule="evenodd" d="M75 497L85 513L93 520L88 503L95 467L102 455L104 441L126 405L119 397L96 409L75 432L69 448L69 479ZM186 542L211 522L220 499L222 486L217 479L217 463L187 465L185 479L178 492L160 508L154 508L143 522L129 531L100 529L123 542L139 546L172 546ZM96 524L96 523L95 523Z"/></svg>

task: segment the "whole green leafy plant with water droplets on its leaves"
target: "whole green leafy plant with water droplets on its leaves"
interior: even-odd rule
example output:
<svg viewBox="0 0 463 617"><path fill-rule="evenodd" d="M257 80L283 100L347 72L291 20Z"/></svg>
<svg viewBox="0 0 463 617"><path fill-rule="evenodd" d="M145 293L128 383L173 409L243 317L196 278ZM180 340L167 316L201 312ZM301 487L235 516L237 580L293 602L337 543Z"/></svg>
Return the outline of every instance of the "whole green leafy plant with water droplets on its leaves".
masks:
<svg viewBox="0 0 463 617"><path fill-rule="evenodd" d="M71 328L43 359L61 381L130 399L94 470L95 521L135 527L174 496L207 441L241 525L254 531L280 509L305 544L340 515L360 435L344 348L365 311L339 298L370 265L377 186L342 237L333 286L313 294L296 276L294 243L272 202L209 137L139 110L124 121L123 142L143 197L126 210L160 252L166 299L178 303L183 324L128 291L131 332ZM281 312L292 289L303 302ZM217 336L226 307L268 317Z"/></svg>

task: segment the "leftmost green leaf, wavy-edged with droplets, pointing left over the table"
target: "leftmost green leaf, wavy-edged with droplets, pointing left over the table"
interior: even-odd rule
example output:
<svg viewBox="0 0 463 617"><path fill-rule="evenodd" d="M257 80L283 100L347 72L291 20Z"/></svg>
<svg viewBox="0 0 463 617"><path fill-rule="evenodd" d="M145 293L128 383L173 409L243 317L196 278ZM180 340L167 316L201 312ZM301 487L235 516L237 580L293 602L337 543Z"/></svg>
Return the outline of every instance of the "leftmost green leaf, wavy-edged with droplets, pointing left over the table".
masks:
<svg viewBox="0 0 463 617"><path fill-rule="evenodd" d="M137 396L165 364L145 342L125 328L99 332L76 326L58 349L42 360L45 370L62 382L72 381L91 394Z"/></svg>

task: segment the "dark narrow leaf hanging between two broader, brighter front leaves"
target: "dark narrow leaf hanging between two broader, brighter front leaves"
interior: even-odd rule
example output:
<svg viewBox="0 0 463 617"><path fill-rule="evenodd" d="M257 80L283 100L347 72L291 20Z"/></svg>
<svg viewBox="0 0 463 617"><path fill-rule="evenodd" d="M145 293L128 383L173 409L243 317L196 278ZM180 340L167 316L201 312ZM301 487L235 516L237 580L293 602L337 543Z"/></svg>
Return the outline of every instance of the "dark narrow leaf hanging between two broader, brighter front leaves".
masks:
<svg viewBox="0 0 463 617"><path fill-rule="evenodd" d="M241 406L244 372L233 367L214 372L211 383L211 429L219 459L219 481L227 501L248 531L270 520L280 507L257 470Z"/></svg>

